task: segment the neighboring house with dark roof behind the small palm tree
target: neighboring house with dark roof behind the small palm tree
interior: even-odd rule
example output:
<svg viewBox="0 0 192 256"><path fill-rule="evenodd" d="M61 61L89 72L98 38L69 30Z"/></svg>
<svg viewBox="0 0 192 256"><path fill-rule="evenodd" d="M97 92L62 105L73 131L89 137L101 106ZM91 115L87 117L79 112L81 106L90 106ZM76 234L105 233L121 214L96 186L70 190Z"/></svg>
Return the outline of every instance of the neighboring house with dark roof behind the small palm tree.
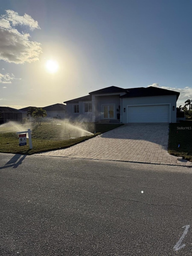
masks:
<svg viewBox="0 0 192 256"><path fill-rule="evenodd" d="M66 105L64 104L53 104L50 106L42 107L43 110L46 110L47 117L64 119L66 117ZM27 117L27 111L29 107L24 107L19 109L23 112L23 118Z"/></svg>

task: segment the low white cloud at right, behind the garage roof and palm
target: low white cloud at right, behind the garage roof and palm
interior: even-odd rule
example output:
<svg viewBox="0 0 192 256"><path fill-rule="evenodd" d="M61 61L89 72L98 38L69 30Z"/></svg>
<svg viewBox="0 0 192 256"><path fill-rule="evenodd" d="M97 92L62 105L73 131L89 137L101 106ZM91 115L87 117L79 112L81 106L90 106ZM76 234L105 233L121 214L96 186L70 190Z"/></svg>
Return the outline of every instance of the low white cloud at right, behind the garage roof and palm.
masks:
<svg viewBox="0 0 192 256"><path fill-rule="evenodd" d="M168 86L160 86L159 83L153 83L149 86L154 86L154 87L158 87L158 88L162 88L162 89L167 89L167 90L171 90L171 91L175 91L175 92L180 92L179 98L177 100L177 106L182 105L182 107L184 106L184 102L188 99L192 99L192 88L189 86L186 86L184 88L176 88L176 87L168 87Z"/></svg>

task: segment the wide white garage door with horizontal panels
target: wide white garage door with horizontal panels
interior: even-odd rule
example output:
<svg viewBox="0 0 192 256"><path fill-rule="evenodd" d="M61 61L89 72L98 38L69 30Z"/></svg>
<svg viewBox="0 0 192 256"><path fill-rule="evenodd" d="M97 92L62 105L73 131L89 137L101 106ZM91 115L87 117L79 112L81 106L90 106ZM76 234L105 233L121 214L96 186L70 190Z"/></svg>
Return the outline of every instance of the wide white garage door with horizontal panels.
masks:
<svg viewBox="0 0 192 256"><path fill-rule="evenodd" d="M128 106L128 123L169 122L169 105Z"/></svg>

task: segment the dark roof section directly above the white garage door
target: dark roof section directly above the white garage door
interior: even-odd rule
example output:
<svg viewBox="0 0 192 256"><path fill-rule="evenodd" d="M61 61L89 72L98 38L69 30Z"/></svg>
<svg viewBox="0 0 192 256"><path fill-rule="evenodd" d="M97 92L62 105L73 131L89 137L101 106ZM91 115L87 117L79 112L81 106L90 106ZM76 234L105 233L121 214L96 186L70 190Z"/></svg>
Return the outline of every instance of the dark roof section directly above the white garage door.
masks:
<svg viewBox="0 0 192 256"><path fill-rule="evenodd" d="M120 96L120 98L131 98L131 97L146 97L146 96L158 96L158 95L177 95L179 98L180 92L175 92L167 89L162 89L154 86L149 86L147 88L129 88L128 93Z"/></svg>

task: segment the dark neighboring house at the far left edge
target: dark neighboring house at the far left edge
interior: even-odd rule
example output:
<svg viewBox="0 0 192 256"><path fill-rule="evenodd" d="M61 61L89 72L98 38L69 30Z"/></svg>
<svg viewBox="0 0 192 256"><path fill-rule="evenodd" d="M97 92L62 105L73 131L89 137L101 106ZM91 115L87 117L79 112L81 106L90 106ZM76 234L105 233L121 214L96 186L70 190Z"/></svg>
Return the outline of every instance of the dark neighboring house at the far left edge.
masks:
<svg viewBox="0 0 192 256"><path fill-rule="evenodd" d="M22 121L22 112L12 107L0 107L0 124L8 121Z"/></svg>

